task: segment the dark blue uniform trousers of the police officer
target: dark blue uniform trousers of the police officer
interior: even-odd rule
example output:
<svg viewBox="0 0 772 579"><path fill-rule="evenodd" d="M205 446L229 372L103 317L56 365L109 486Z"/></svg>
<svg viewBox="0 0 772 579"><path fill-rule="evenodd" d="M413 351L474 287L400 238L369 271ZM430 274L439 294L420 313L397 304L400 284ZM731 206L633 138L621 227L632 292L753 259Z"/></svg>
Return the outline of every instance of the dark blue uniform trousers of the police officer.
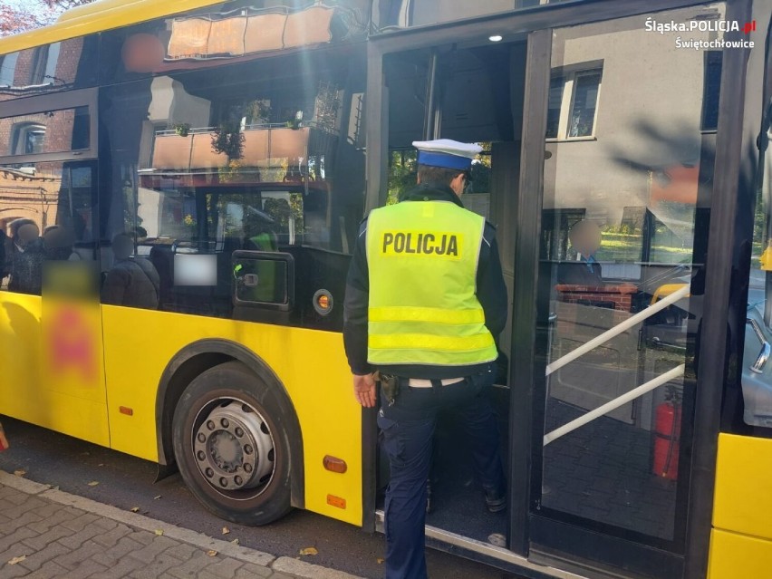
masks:
<svg viewBox="0 0 772 579"><path fill-rule="evenodd" d="M472 442L478 478L487 490L504 492L496 415L487 398L493 382L488 372L448 386L411 388L402 380L390 406L381 396L378 426L381 448L389 457L386 490L386 579L424 579L426 481L431 466L434 428L440 410L455 409ZM480 504L480 508L484 508Z"/></svg>

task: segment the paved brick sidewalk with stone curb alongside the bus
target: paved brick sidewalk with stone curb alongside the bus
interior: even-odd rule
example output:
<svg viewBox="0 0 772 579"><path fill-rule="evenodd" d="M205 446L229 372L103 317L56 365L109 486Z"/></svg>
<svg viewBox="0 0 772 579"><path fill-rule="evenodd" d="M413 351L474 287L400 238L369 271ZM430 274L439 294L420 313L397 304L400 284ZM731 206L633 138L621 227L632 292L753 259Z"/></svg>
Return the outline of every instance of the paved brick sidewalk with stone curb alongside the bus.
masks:
<svg viewBox="0 0 772 579"><path fill-rule="evenodd" d="M358 579L0 471L0 579Z"/></svg>

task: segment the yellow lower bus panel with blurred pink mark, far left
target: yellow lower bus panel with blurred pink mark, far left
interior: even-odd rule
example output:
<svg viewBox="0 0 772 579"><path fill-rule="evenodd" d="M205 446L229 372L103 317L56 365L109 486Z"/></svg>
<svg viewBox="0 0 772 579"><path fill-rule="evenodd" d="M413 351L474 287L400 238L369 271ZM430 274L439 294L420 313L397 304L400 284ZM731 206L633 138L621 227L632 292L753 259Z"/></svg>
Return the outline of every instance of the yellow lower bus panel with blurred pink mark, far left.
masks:
<svg viewBox="0 0 772 579"><path fill-rule="evenodd" d="M0 412L110 446L99 304L0 293L0 372Z"/></svg>

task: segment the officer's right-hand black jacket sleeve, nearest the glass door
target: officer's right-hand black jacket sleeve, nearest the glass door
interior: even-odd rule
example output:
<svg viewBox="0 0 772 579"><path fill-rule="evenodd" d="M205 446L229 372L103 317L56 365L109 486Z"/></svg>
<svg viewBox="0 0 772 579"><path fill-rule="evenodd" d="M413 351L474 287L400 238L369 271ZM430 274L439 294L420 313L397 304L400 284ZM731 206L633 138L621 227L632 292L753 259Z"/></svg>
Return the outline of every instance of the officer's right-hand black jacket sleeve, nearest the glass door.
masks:
<svg viewBox="0 0 772 579"><path fill-rule="evenodd" d="M486 223L478 262L478 300L485 312L485 325L498 343L498 334L507 325L507 285L501 273L496 229Z"/></svg>

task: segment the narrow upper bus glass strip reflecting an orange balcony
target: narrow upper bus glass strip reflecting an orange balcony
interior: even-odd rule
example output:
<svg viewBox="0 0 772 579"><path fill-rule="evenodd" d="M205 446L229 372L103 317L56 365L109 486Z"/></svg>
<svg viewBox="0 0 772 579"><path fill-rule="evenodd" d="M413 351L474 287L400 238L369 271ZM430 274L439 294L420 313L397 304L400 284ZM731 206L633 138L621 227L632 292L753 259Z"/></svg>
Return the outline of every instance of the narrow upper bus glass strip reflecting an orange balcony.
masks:
<svg viewBox="0 0 772 579"><path fill-rule="evenodd" d="M370 0L251 0L188 11L102 34L105 83L367 37Z"/></svg>

